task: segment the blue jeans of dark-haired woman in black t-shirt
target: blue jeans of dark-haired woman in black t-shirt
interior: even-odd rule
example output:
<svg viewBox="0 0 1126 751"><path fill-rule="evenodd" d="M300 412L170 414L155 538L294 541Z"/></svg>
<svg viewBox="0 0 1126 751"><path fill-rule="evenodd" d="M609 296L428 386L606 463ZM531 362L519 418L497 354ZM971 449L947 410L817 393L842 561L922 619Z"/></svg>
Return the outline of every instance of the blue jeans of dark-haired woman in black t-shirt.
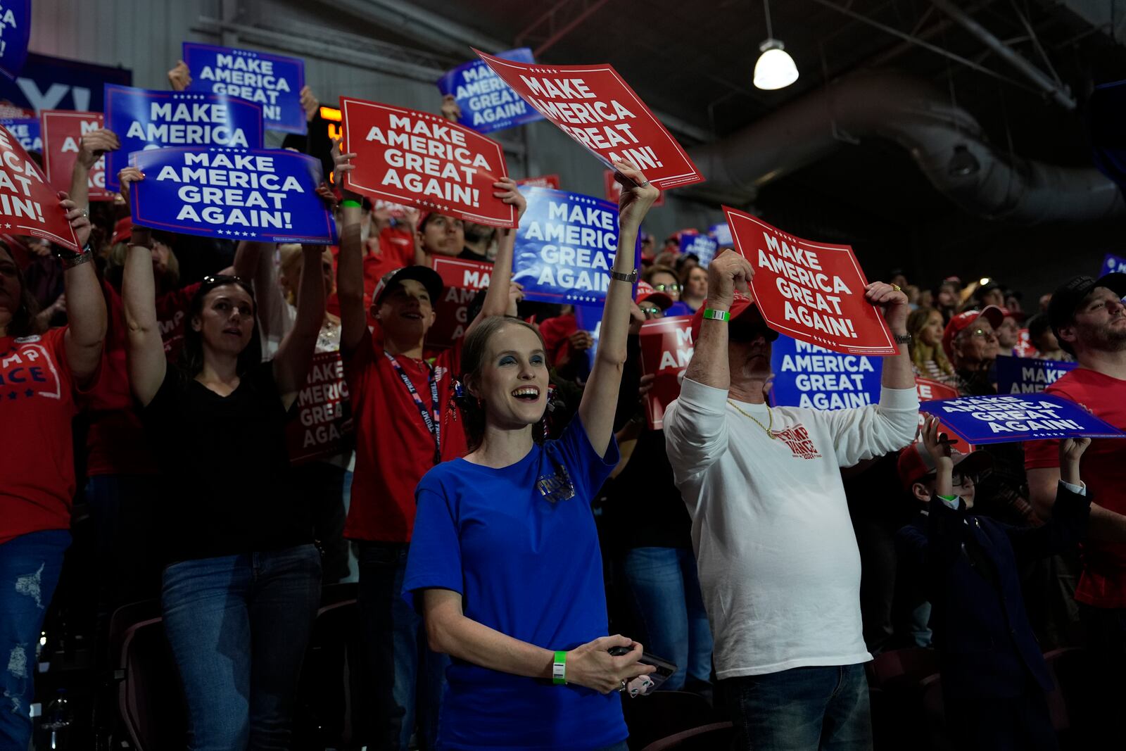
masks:
<svg viewBox="0 0 1126 751"><path fill-rule="evenodd" d="M313 545L164 569L164 633L188 701L189 749L289 748L320 599Z"/></svg>

